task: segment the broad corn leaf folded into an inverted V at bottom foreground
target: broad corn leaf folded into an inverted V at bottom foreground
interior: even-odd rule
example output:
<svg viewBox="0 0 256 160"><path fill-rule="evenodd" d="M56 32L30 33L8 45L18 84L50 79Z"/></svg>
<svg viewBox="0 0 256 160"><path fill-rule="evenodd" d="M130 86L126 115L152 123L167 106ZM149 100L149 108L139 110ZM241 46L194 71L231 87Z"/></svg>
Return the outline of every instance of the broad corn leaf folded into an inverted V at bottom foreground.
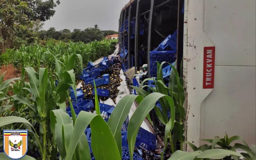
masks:
<svg viewBox="0 0 256 160"><path fill-rule="evenodd" d="M92 152L95 159L120 160L121 157L119 155L117 144L108 124L100 115L95 115L85 111L81 111L77 116L74 130L70 138L66 159L72 158L75 148L84 134L85 128L89 124L92 131ZM88 149L84 150L84 152L89 156L83 157L83 159L91 159L89 146Z"/></svg>

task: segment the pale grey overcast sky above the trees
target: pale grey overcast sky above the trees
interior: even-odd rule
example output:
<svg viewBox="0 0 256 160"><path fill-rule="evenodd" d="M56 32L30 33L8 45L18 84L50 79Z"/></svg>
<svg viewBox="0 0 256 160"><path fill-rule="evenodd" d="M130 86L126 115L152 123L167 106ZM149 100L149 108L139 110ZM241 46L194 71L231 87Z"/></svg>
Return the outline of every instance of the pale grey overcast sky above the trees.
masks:
<svg viewBox="0 0 256 160"><path fill-rule="evenodd" d="M55 0L54 0L55 1ZM129 0L60 0L55 14L47 20L44 29L85 29L98 24L101 30L118 31L121 9Z"/></svg>

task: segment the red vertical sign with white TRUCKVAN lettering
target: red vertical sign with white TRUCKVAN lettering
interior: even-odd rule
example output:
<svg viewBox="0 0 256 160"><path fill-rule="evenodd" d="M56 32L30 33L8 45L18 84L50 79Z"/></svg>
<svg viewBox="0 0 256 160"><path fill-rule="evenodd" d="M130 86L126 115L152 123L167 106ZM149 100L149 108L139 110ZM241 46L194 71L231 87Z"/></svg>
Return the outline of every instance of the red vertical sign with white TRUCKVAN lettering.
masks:
<svg viewBox="0 0 256 160"><path fill-rule="evenodd" d="M203 89L214 88L215 47L204 47Z"/></svg>

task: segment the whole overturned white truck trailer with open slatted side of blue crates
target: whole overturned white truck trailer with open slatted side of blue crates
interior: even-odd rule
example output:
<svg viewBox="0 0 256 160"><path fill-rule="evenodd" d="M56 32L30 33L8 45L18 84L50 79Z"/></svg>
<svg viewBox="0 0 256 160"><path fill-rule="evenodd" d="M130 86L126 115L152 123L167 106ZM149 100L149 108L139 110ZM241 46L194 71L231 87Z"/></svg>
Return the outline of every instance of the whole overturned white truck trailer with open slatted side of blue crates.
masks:
<svg viewBox="0 0 256 160"><path fill-rule="evenodd" d="M184 79L186 140L256 143L255 0L131 0L119 19L123 69L173 62ZM180 64L182 66L180 67ZM190 148L183 146L187 150Z"/></svg>

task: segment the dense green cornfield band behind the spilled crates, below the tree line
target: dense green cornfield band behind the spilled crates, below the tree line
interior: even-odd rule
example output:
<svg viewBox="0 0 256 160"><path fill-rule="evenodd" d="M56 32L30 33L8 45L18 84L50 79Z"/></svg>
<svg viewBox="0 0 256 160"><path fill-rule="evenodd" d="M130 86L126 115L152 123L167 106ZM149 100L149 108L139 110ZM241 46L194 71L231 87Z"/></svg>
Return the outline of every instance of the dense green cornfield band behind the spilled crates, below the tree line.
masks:
<svg viewBox="0 0 256 160"><path fill-rule="evenodd" d="M88 44L82 42L56 42L48 41L46 45L34 44L21 46L17 50L7 49L0 55L0 64L13 64L17 68L33 67L36 71L38 68L48 68L49 72L54 74L55 61L54 56L61 64L66 64L69 58L74 54L80 54L83 64L87 65L89 61L95 61L102 56L108 56L115 50L117 40L93 41ZM79 74L80 64L76 63L74 68L76 77Z"/></svg>

